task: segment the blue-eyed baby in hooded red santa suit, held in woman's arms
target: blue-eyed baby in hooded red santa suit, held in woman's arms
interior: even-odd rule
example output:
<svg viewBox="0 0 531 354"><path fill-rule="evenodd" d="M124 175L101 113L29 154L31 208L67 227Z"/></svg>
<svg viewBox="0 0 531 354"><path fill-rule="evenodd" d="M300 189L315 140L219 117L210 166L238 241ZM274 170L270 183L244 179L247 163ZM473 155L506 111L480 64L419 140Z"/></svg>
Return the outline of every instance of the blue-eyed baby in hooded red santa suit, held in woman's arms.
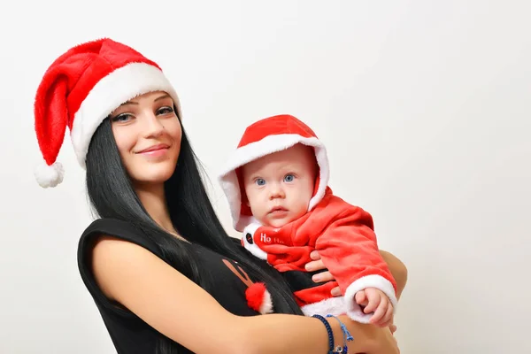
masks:
<svg viewBox="0 0 531 354"><path fill-rule="evenodd" d="M327 186L327 151L310 127L290 115L247 127L219 176L242 245L289 281L305 315L340 315L389 326L396 282L381 258L373 219ZM320 258L335 281L315 283L304 265ZM342 296L332 296L336 286ZM271 296L257 283L250 307L272 312Z"/></svg>

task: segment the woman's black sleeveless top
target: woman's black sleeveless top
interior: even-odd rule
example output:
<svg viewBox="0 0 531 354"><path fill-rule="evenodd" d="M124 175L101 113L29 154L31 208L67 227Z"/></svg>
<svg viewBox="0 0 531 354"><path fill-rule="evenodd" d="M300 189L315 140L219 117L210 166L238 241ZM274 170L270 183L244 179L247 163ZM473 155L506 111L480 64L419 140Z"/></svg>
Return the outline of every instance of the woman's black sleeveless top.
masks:
<svg viewBox="0 0 531 354"><path fill-rule="evenodd" d="M158 338L162 335L133 312L112 303L96 285L90 265L91 251L96 238L101 235L134 242L146 250L150 250L165 262L167 260L157 244L142 236L142 233L138 232L132 225L117 219L97 219L92 222L81 235L78 246L78 266L81 278L96 303L117 352L119 354L156 353ZM238 241L235 240L235 242ZM209 290L209 293L219 304L235 315L258 315L258 312L250 309L245 300L245 290L250 284L250 279L241 266L212 250L205 250L203 247L193 244L189 247L195 251L199 266L204 267L202 273L206 271L212 274L214 286ZM175 299L175 301L179 301L179 299ZM191 351L184 349L179 352L191 353Z"/></svg>

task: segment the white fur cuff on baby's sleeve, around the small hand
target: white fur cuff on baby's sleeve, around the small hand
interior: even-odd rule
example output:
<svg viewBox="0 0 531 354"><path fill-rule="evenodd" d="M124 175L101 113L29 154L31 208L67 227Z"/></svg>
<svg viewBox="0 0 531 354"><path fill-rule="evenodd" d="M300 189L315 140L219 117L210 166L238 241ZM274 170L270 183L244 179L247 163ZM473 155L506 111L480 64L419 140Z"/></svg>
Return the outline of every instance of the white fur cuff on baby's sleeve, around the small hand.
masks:
<svg viewBox="0 0 531 354"><path fill-rule="evenodd" d="M393 312L396 312L396 305L398 303L395 295L395 288L390 281L382 277L381 275L367 275L359 278L349 285L345 291L345 304L347 306L347 314L350 319L357 320L361 323L368 323L369 319L373 316L373 313L365 313L361 310L361 307L356 303L356 293L366 288L380 289L385 295L389 297L391 304L393 304Z"/></svg>

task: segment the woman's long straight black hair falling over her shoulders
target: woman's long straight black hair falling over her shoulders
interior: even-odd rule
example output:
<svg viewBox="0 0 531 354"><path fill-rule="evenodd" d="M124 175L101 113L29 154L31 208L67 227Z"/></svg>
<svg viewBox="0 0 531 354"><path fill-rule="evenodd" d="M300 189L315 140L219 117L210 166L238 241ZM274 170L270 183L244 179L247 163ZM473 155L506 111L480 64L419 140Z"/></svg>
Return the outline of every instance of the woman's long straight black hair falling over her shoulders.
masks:
<svg viewBox="0 0 531 354"><path fill-rule="evenodd" d="M110 119L104 119L90 142L87 192L99 217L133 224L158 245L169 264L202 288L209 289L207 270L197 264L190 246L159 227L143 208L119 156ZM266 262L250 256L227 235L204 188L200 163L184 128L175 171L165 182L165 197L173 227L182 237L239 262L252 280L266 282L275 312L303 314L281 274ZM181 345L161 335L158 353L178 353L181 349Z"/></svg>

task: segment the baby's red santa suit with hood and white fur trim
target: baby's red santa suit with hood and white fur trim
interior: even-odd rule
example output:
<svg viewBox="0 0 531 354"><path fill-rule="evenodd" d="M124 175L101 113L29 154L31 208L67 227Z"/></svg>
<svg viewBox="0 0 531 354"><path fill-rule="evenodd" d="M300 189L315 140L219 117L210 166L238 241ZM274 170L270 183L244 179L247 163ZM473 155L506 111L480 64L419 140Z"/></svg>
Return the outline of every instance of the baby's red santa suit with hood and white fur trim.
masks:
<svg viewBox="0 0 531 354"><path fill-rule="evenodd" d="M288 149L297 143L311 146L319 165L319 176L308 212L288 225L264 227L252 217L243 203L240 168L257 158ZM317 135L302 121L290 115L273 116L252 124L220 173L219 181L228 199L234 227L243 233L242 245L254 256L265 259L280 272L305 272L310 253L318 250L335 281L295 292L296 300L307 315L348 313L352 319L368 322L370 314L354 301L359 290L381 289L396 308L396 282L381 258L373 232L373 219L363 209L334 196L327 186L329 168L327 150ZM344 296L331 296L339 285ZM258 287L258 286L257 286ZM261 312L271 311L267 290L250 288L248 301Z"/></svg>

